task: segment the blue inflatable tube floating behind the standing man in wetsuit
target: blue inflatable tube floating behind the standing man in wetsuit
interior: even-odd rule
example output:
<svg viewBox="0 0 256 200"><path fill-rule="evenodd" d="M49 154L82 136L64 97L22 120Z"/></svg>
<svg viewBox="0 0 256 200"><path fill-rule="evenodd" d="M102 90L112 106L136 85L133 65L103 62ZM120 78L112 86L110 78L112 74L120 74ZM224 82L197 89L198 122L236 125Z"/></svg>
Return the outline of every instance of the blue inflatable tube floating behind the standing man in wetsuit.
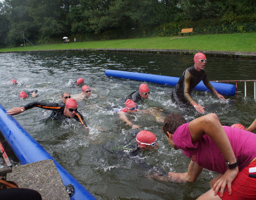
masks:
<svg viewBox="0 0 256 200"><path fill-rule="evenodd" d="M155 75L155 74L144 74L144 73L137 73L137 72L130 72L130 71L111 70L111 69L107 69L105 71L105 75L109 77L127 78L135 81L145 81L145 82L157 83L161 85L170 85L170 86L175 86L179 81L178 77L162 76L162 75ZM235 85L227 84L227 83L217 83L217 82L211 82L211 84L214 87L214 89L222 95L233 96L236 93ZM198 85L195 87L194 90L211 92L210 90L207 89L207 87L204 85L202 81L198 83Z"/></svg>

